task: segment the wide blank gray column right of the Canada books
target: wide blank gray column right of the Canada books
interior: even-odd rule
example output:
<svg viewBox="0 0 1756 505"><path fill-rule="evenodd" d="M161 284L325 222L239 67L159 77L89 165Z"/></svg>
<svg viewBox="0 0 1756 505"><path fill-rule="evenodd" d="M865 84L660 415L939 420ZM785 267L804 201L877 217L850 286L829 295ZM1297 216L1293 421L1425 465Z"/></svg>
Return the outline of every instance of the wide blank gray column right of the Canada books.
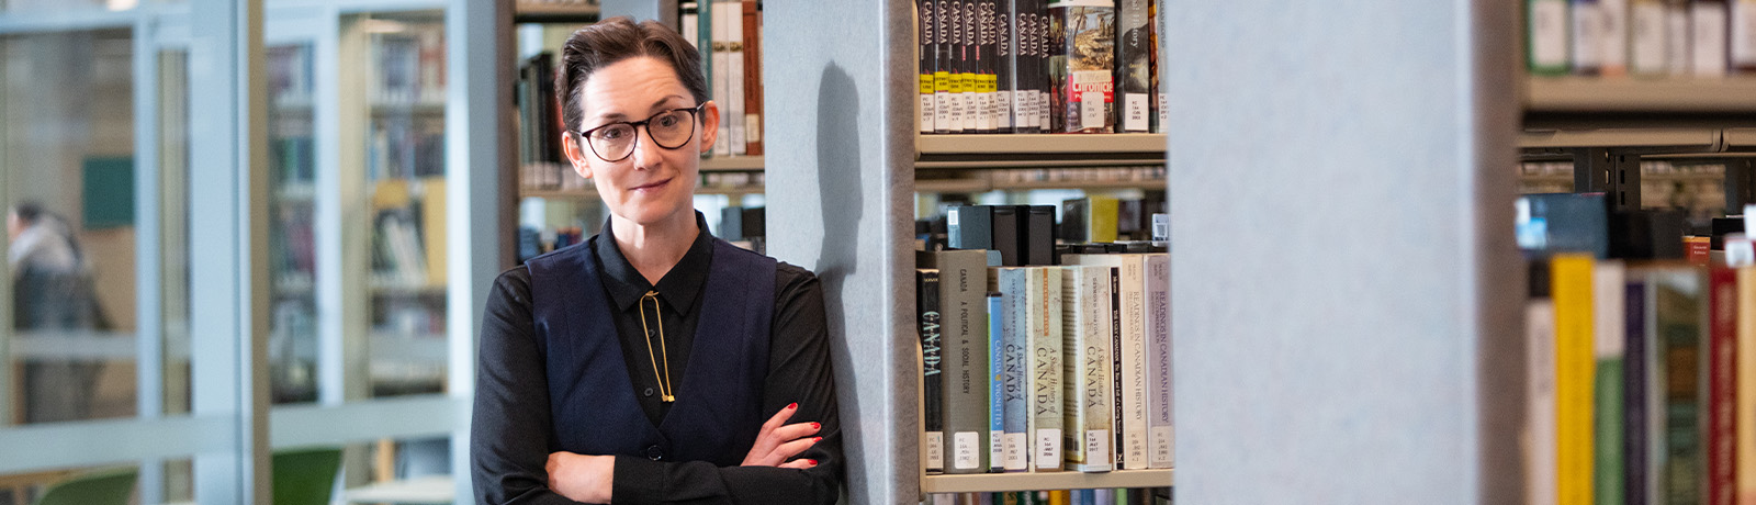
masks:
<svg viewBox="0 0 1756 505"><path fill-rule="evenodd" d="M1162 5L1177 501L1519 503L1519 4Z"/></svg>

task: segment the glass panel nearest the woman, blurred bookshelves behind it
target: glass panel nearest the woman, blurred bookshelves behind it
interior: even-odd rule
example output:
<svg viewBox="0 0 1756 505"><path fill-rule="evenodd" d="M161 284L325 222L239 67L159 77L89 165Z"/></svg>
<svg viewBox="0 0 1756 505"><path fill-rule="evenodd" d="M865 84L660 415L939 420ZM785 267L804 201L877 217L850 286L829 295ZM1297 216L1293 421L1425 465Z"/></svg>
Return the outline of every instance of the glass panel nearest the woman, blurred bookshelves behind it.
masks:
<svg viewBox="0 0 1756 505"><path fill-rule="evenodd" d="M363 86L360 156L367 240L346 244L365 261L369 314L363 321L369 361L362 396L443 393L446 388L446 160L444 160L444 16L443 12L363 14L342 23L342 58L358 67ZM353 42L353 44L349 44ZM346 105L342 105L346 107ZM342 117L360 117L342 112ZM344 126L346 133L348 126ZM344 144L346 146L346 144ZM344 191L348 193L348 191ZM349 254L344 254L349 256ZM344 324L346 326L346 324ZM351 328L360 331L360 328ZM358 337L353 337L358 338ZM349 345L353 347L353 345ZM353 379L349 379L353 381Z"/></svg>

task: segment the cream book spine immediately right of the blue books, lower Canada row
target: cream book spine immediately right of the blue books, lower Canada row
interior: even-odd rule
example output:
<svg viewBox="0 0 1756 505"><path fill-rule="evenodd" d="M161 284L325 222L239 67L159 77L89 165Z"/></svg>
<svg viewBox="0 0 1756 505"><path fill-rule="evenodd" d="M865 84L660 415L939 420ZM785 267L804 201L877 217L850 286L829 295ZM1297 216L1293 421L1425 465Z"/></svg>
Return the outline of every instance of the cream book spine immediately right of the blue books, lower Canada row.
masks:
<svg viewBox="0 0 1756 505"><path fill-rule="evenodd" d="M1029 424L1026 431L1031 433L1031 470L1034 472L1061 472L1062 470L1062 431L1066 426L1066 416L1062 409L1064 402L1064 317L1066 317L1066 289L1062 284L1066 281L1066 268L1061 267L1033 267L1029 268L1029 286L1033 293L1029 298L1031 321L1026 326L1031 338L1031 352L1027 356L1029 373L1026 375L1026 389L1029 391Z"/></svg>

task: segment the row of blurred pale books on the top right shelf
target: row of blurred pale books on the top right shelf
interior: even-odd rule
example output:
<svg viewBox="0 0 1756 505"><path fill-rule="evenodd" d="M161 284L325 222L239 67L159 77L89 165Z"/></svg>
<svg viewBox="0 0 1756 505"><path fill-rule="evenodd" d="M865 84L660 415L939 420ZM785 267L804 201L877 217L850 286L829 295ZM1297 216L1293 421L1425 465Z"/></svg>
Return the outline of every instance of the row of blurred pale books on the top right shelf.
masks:
<svg viewBox="0 0 1756 505"><path fill-rule="evenodd" d="M1751 0L1526 0L1524 7L1531 74L1756 74Z"/></svg>

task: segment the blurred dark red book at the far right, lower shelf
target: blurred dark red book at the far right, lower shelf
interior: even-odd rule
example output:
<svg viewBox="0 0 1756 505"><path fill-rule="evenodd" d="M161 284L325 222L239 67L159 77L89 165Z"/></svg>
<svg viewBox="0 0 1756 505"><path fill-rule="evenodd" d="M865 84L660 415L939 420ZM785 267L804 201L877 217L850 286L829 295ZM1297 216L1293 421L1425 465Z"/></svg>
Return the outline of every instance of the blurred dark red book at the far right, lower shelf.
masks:
<svg viewBox="0 0 1756 505"><path fill-rule="evenodd" d="M1738 274L1714 267L1709 272L1709 342L1707 342L1707 500L1710 505L1737 503L1738 461Z"/></svg>

